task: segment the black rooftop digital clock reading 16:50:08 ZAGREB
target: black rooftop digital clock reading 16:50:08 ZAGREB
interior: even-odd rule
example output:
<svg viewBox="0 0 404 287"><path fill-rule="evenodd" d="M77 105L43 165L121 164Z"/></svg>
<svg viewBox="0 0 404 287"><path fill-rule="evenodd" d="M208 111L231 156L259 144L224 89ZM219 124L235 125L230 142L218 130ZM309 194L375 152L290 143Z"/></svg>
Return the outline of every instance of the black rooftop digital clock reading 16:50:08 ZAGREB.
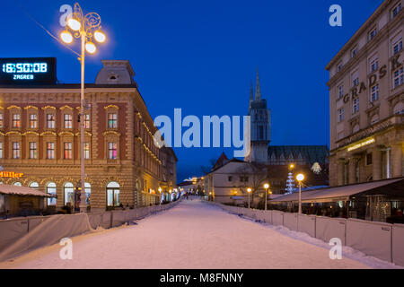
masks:
<svg viewBox="0 0 404 287"><path fill-rule="evenodd" d="M0 84L55 84L55 57L0 58Z"/></svg>

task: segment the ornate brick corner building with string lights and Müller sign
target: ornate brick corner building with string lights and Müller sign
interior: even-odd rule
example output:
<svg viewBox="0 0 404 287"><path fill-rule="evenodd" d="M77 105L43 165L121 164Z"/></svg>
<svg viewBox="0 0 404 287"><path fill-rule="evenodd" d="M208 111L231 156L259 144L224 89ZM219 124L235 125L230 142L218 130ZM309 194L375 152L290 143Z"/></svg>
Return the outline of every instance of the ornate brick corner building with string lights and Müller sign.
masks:
<svg viewBox="0 0 404 287"><path fill-rule="evenodd" d="M159 187L166 181L162 155L154 144L156 127L133 80L135 73L128 61L102 64L95 83L85 84L81 118L79 84L0 87L0 165L23 174L4 178L4 183L57 195L46 203L56 209L75 204L80 119L85 126L85 191L91 209L160 202ZM175 183L176 163L171 170Z"/></svg>

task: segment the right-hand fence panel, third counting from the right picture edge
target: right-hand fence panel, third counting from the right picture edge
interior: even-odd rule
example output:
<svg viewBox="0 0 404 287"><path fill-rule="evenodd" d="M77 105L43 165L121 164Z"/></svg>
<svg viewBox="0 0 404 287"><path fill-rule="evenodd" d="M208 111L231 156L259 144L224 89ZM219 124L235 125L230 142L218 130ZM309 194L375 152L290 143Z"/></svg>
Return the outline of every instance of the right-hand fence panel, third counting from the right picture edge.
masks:
<svg viewBox="0 0 404 287"><path fill-rule="evenodd" d="M316 239L329 242L329 239L341 239L342 245L346 245L347 220L344 218L330 218L316 216Z"/></svg>

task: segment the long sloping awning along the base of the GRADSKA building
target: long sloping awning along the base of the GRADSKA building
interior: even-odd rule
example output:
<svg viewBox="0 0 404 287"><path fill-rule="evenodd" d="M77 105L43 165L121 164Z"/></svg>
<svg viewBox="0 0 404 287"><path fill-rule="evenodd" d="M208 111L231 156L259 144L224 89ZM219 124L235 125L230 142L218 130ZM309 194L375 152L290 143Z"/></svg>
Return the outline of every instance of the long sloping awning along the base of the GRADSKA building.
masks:
<svg viewBox="0 0 404 287"><path fill-rule="evenodd" d="M388 186L392 186L392 191L397 196L397 183L400 186L404 185L404 178L393 178L393 179L383 179L372 182L359 183L355 185L348 185L342 187L328 187L321 188L312 191L302 192L302 202L303 203L327 203L334 201L345 201L349 200L350 196L358 194L368 194L368 195L388 195ZM379 188L382 187L382 188ZM401 190L400 196L404 197L404 190ZM277 204L282 202L298 202L299 192L295 192L286 196L279 196L269 201L269 203Z"/></svg>

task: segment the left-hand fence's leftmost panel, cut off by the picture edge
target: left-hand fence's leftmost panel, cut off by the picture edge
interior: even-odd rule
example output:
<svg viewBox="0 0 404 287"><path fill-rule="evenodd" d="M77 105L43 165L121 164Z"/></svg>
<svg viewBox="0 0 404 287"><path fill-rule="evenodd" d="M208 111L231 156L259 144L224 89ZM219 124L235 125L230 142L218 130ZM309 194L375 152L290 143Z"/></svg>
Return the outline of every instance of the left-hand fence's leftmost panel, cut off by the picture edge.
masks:
<svg viewBox="0 0 404 287"><path fill-rule="evenodd" d="M0 221L0 254L17 239L28 233L28 218L18 217ZM1 260L0 260L1 261Z"/></svg>

